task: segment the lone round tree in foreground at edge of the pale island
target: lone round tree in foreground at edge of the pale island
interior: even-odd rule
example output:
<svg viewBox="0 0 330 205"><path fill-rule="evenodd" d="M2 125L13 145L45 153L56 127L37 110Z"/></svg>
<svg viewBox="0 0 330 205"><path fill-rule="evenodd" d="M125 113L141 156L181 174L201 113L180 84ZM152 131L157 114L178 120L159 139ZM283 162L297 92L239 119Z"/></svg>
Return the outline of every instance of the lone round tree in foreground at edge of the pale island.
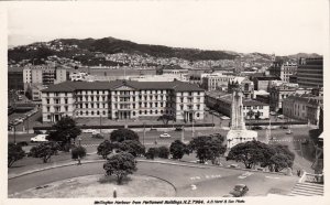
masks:
<svg viewBox="0 0 330 205"><path fill-rule="evenodd" d="M114 174L117 176L118 184L122 183L123 177L138 170L134 157L128 152L120 152L110 157L103 164L103 169L107 175Z"/></svg>

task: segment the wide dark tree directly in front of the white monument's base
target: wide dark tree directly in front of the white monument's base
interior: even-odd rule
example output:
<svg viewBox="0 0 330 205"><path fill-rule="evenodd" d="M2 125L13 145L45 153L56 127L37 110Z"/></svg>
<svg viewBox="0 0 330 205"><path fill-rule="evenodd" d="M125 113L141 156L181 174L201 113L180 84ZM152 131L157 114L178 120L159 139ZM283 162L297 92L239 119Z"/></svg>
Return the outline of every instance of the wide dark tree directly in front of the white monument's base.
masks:
<svg viewBox="0 0 330 205"><path fill-rule="evenodd" d="M231 148L227 160L243 162L246 169L251 169L257 163L267 164L274 154L275 152L267 144L253 140Z"/></svg>

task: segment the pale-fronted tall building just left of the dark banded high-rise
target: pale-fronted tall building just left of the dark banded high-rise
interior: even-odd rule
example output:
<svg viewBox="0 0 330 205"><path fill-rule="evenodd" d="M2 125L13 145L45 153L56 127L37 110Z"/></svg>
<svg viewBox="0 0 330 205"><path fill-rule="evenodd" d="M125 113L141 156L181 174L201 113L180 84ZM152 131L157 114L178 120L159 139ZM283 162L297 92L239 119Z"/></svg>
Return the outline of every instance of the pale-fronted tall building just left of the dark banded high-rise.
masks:
<svg viewBox="0 0 330 205"><path fill-rule="evenodd" d="M279 77L283 82L289 83L289 77L297 74L297 64L289 62L274 62L270 67L270 75Z"/></svg>

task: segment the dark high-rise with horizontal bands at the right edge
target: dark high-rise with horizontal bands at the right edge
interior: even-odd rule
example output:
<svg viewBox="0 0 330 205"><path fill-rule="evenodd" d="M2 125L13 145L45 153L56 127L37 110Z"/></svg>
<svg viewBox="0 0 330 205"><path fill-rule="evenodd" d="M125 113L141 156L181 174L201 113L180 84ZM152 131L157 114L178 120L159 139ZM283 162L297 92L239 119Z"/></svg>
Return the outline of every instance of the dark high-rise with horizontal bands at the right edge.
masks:
<svg viewBox="0 0 330 205"><path fill-rule="evenodd" d="M323 87L323 57L300 58L297 83L300 87Z"/></svg>

